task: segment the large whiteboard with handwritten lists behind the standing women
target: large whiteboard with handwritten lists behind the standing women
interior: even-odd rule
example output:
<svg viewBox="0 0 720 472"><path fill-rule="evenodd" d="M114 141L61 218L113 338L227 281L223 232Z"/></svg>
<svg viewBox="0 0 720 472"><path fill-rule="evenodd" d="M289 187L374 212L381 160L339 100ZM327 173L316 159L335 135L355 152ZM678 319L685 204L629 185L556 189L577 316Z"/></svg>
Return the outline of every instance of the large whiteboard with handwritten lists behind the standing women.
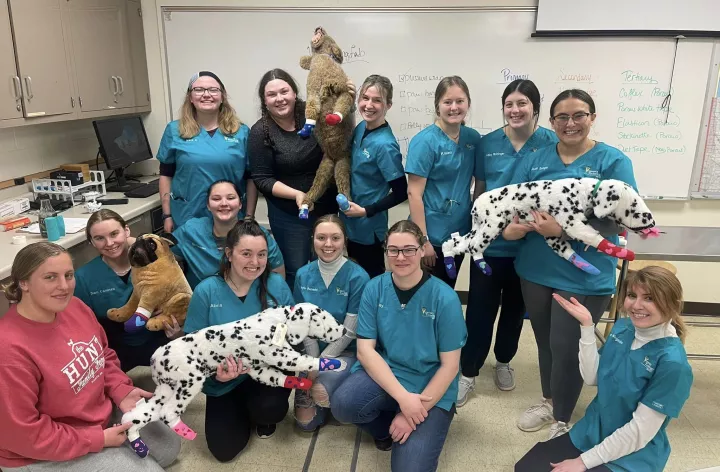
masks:
<svg viewBox="0 0 720 472"><path fill-rule="evenodd" d="M212 70L225 83L240 118L260 117L257 86L272 68L290 72L301 90L298 65L322 25L342 47L344 70L359 86L370 74L395 87L388 122L403 155L409 140L434 120L433 94L443 76L459 75L470 88L467 124L481 134L503 125L501 95L515 78L530 78L543 95L540 124L560 91L582 88L594 97L591 137L625 151L648 198L687 198L711 63L712 41L680 42L672 105L660 110L675 51L668 39L537 39L535 10L382 11L327 9L163 8L167 81L173 116L187 81ZM280 27L283 33L267 34ZM202 30L202 36L193 31ZM357 117L359 119L359 117Z"/></svg>

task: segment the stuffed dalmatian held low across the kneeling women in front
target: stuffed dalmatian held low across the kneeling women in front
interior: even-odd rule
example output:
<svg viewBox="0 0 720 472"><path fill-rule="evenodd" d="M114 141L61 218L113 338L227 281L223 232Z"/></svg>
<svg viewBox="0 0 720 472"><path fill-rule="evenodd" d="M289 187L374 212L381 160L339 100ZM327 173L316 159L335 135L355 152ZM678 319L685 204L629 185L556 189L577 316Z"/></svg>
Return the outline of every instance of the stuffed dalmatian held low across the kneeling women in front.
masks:
<svg viewBox="0 0 720 472"><path fill-rule="evenodd" d="M333 316L310 303L268 308L257 315L195 331L158 348L150 360L157 385L152 398L140 400L125 413L122 423L132 422L128 439L140 457L148 448L140 429L162 420L177 434L195 439L196 433L180 419L203 383L217 372L226 357L239 358L251 370L254 380L273 387L307 390L312 381L285 375L281 371L305 372L342 370L339 359L314 358L296 352L292 346L306 337L328 343L343 337L345 328Z"/></svg>

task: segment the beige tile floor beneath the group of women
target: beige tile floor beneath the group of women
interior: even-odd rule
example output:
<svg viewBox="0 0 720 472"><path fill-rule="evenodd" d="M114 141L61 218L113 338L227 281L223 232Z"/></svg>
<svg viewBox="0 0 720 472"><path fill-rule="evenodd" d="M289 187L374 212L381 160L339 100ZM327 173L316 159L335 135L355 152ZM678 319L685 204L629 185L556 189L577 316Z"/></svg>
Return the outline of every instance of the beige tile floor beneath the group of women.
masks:
<svg viewBox="0 0 720 472"><path fill-rule="evenodd" d="M687 349L693 353L720 351L720 329L691 328ZM488 359L477 379L475 393L461 408L450 428L440 459L440 471L510 472L513 465L537 441L543 441L547 429L524 433L515 420L524 408L540 397L537 350L529 322L525 322L520 351L513 361L517 388L500 392L492 380L494 359ZM692 361L695 374L690 399L679 419L669 428L672 455L666 471L686 472L720 465L720 362ZM149 380L147 369L132 376L141 384ZM585 387L573 421L579 419L595 389ZM292 397L291 397L292 400ZM379 452L369 436L363 434L352 469L357 430L351 426L328 425L319 431L312 454L308 453L312 434L293 426L291 413L278 425L269 439L251 439L248 448L234 461L216 462L207 450L203 433L205 398L200 395L184 416L198 432L194 441L184 441L178 461L171 472L258 471L258 472L384 472L390 471L390 453Z"/></svg>

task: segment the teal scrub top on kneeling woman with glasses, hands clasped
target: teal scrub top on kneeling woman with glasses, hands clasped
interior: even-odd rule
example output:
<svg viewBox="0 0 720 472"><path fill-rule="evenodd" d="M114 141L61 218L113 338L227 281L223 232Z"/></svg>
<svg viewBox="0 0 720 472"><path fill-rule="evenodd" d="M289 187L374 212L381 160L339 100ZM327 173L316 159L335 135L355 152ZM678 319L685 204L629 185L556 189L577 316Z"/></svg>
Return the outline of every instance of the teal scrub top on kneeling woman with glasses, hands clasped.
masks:
<svg viewBox="0 0 720 472"><path fill-rule="evenodd" d="M375 349L411 393L422 393L440 368L440 353L461 349L467 340L457 293L431 276L403 308L386 272L365 286L358 338L375 339ZM352 372L362 369L358 361ZM460 372L436 406L450 411L457 400Z"/></svg>

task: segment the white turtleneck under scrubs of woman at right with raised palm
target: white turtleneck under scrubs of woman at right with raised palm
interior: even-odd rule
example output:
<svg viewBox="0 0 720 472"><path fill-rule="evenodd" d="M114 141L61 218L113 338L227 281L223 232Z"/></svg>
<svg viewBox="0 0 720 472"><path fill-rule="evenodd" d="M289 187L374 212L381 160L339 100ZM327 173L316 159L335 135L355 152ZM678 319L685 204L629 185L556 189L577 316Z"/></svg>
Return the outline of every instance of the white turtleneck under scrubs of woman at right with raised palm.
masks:
<svg viewBox="0 0 720 472"><path fill-rule="evenodd" d="M640 349L655 339L677 337L675 327L662 323L650 328L635 328L635 338L630 350ZM580 327L580 374L588 385L597 385L597 371L600 363L595 343L595 325ZM580 455L585 467L592 469L615 459L639 451L655 437L666 415L645 406L642 403L633 412L633 419L615 430L603 442Z"/></svg>

